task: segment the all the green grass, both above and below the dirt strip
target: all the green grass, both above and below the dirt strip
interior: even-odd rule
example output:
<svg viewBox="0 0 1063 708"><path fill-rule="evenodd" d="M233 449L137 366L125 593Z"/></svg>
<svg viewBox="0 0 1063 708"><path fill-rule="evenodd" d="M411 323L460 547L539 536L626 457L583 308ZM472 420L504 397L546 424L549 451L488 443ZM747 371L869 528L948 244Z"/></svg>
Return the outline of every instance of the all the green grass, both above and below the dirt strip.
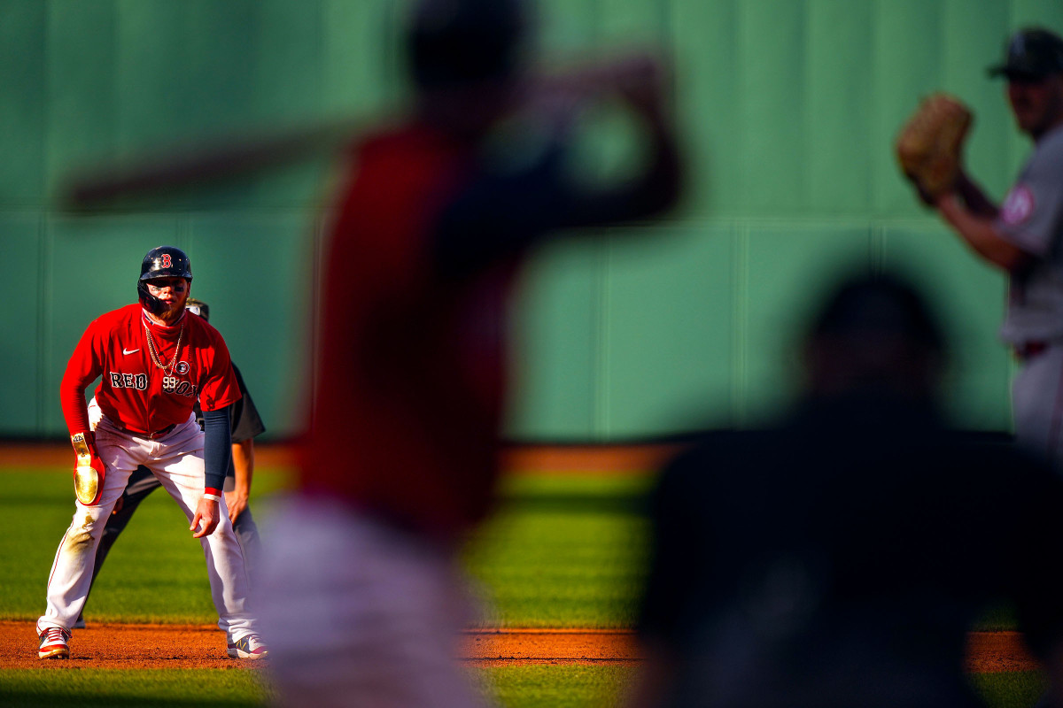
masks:
<svg viewBox="0 0 1063 708"><path fill-rule="evenodd" d="M253 508L269 541L271 500L285 483L256 474ZM522 476L470 545L466 560L485 605L484 626L625 627L635 616L645 557L639 515L646 479ZM73 513L67 470L0 474L0 619L33 620L44 608L52 556ZM213 623L199 542L164 493L138 510L115 545L86 609L89 622ZM993 619L1007 626L1007 616ZM32 638L27 652L34 646ZM486 696L511 708L617 705L634 669L532 664L478 670ZM53 672L0 669L3 706L263 706L270 689L253 670ZM68 678L73 676L73 678ZM1032 705L1036 674L973 677L994 708Z"/></svg>

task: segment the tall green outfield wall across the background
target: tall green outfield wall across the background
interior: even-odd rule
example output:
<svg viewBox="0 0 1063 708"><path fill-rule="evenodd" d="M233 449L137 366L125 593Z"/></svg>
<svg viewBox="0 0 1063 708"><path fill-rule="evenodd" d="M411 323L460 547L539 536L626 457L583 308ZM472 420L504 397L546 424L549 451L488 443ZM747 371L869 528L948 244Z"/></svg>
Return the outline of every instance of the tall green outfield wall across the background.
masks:
<svg viewBox="0 0 1063 708"><path fill-rule="evenodd" d="M162 243L191 256L193 294L212 305L269 434L298 430L334 157L89 212L55 196L71 174L115 160L395 109L402 10L0 0L0 437L64 433L57 385L74 343L133 301L140 258ZM690 187L662 222L535 254L513 305L509 434L623 441L753 425L792 390L810 300L841 270L883 266L917 278L947 321L948 391L965 425L1008 429L1003 279L917 207L890 145L921 96L954 92L976 114L971 171L1002 196L1029 145L984 68L1028 23L1063 31L1063 3L543 2L547 61L646 44L674 58Z"/></svg>

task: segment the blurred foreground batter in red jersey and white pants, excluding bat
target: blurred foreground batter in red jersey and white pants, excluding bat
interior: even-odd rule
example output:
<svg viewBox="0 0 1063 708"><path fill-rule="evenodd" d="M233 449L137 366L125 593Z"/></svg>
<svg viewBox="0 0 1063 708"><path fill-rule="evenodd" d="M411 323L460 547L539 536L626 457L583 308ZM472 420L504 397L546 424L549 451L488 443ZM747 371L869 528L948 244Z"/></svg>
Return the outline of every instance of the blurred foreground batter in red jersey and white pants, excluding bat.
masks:
<svg viewBox="0 0 1063 708"><path fill-rule="evenodd" d="M266 549L263 624L288 705L478 703L453 661L468 619L455 560L499 473L517 269L554 229L646 217L677 193L662 76L646 57L574 87L619 97L648 126L630 183L573 179L563 121L537 125L546 139L526 159L491 158L490 128L522 85L525 22L513 0L420 3L416 115L353 157L326 256L301 495Z"/></svg>

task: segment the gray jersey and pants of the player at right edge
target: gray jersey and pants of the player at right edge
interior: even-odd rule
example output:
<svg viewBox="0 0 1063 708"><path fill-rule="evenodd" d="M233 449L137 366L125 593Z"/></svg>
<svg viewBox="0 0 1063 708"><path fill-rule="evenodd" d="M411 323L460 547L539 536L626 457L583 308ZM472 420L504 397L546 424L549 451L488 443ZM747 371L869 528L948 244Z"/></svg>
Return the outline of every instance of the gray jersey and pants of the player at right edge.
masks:
<svg viewBox="0 0 1063 708"><path fill-rule="evenodd" d="M1000 331L1023 362L1012 384L1015 436L1063 465L1063 126L1036 142L995 226L1035 257L1011 277Z"/></svg>

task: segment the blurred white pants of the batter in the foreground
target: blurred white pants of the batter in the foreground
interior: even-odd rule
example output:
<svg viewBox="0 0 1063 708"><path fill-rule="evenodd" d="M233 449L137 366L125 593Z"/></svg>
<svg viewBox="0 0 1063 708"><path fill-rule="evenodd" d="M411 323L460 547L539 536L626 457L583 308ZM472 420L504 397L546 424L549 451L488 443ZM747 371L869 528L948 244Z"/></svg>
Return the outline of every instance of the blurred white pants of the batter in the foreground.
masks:
<svg viewBox="0 0 1063 708"><path fill-rule="evenodd" d="M452 554L321 499L269 528L261 624L281 705L483 704L457 662L471 604Z"/></svg>

